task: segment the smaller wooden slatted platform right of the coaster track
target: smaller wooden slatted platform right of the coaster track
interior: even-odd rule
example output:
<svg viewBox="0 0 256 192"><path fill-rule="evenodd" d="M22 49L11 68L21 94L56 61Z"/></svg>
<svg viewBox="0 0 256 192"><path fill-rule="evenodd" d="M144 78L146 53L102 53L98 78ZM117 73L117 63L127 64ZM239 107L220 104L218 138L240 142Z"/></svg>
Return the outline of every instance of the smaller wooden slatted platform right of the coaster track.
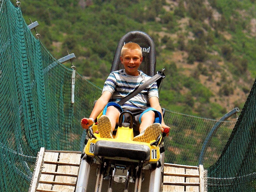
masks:
<svg viewBox="0 0 256 192"><path fill-rule="evenodd" d="M163 192L204 192L203 165L164 164Z"/></svg>

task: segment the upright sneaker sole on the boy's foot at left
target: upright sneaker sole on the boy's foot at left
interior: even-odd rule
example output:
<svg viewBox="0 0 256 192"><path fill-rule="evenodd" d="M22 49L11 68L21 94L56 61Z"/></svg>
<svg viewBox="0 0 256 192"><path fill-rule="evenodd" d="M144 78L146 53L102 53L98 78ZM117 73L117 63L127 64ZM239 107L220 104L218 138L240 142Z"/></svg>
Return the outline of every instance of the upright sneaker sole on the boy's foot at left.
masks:
<svg viewBox="0 0 256 192"><path fill-rule="evenodd" d="M100 116L100 118L98 119L97 127L100 133L100 137L113 139L111 124L108 116L106 115Z"/></svg>

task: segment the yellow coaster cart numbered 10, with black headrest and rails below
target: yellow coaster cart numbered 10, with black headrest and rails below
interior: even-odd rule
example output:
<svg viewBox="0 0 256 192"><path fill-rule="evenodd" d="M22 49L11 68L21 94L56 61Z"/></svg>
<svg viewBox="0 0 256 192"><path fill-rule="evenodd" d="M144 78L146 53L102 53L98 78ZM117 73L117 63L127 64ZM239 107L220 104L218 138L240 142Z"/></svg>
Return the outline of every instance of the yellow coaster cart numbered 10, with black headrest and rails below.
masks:
<svg viewBox="0 0 256 192"><path fill-rule="evenodd" d="M119 41L111 71L122 66L119 62L121 48L124 43L130 41L138 43L142 48L144 59L141 70L149 76L154 76L155 45L151 37L141 31L129 32ZM159 87L159 82L157 84ZM162 191L163 140L169 129L164 130L162 135L149 143L133 141L133 120L130 123L122 123L124 115L129 115L133 119L131 112L121 113L118 127L113 133L114 139L101 138L97 131L97 120L87 130L76 192Z"/></svg>

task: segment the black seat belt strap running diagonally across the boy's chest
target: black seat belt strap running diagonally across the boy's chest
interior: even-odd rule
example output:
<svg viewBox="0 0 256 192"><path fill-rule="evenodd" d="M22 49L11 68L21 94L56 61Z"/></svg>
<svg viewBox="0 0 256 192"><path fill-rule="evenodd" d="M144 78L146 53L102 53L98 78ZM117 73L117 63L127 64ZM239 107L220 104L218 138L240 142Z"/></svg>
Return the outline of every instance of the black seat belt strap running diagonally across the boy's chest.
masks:
<svg viewBox="0 0 256 192"><path fill-rule="evenodd" d="M136 89L134 89L129 95L125 96L123 99L121 99L120 101L117 102L117 104L119 104L120 106L123 105L126 101L130 100L132 97L134 97L135 95L137 95L139 92L141 92L143 89L145 89L146 87L148 87L148 85L154 83L156 80L160 79L160 78L164 78L164 69L162 69L162 71L157 71L156 75L154 75L153 77L151 77L150 79L148 79L147 81L145 81L143 84L141 84L139 87L137 87Z"/></svg>

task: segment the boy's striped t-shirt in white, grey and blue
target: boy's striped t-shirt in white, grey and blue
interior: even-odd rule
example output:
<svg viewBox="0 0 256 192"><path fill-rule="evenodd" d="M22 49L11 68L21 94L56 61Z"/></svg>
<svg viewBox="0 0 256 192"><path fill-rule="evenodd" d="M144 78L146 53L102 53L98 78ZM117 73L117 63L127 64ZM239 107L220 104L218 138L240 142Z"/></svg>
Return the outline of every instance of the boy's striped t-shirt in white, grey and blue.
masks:
<svg viewBox="0 0 256 192"><path fill-rule="evenodd" d="M119 71L113 71L109 74L102 93L104 91L109 91L112 93L112 97L110 101L118 102L126 95L131 93L135 88L143 84L145 81L150 79L151 77L143 73L142 71L138 71L139 76L131 76L125 73L124 69ZM133 98L128 100L123 106L127 108L143 108L146 109L150 107L149 98L152 96L156 96L158 98L158 90L156 82L150 84L143 91L135 95Z"/></svg>

